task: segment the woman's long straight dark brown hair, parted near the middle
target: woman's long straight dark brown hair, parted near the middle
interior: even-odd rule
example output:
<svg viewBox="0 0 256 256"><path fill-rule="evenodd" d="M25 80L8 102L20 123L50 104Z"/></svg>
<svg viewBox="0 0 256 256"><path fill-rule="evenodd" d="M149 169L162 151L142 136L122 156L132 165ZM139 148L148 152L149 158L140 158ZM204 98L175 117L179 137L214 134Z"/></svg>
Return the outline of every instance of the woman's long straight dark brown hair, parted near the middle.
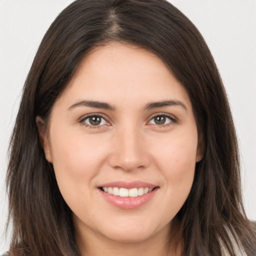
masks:
<svg viewBox="0 0 256 256"><path fill-rule="evenodd" d="M72 212L45 159L35 117L47 121L83 56L109 41L154 52L190 96L204 156L177 213L183 255L219 256L220 240L234 254L228 232L254 255L256 231L242 205L236 134L221 78L198 30L165 0L77 0L47 30L24 84L10 143L10 254L79 255Z"/></svg>

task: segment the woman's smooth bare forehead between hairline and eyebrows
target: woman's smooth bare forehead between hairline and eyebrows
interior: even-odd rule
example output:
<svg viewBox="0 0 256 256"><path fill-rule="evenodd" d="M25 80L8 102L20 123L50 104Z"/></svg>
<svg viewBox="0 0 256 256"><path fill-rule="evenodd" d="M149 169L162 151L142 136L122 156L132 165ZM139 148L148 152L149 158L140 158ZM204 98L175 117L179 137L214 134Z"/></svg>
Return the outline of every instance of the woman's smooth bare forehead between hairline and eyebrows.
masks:
<svg viewBox="0 0 256 256"><path fill-rule="evenodd" d="M85 97L120 105L125 102L126 107L174 99L190 106L183 85L158 56L139 46L117 42L93 48L80 62L61 97Z"/></svg>

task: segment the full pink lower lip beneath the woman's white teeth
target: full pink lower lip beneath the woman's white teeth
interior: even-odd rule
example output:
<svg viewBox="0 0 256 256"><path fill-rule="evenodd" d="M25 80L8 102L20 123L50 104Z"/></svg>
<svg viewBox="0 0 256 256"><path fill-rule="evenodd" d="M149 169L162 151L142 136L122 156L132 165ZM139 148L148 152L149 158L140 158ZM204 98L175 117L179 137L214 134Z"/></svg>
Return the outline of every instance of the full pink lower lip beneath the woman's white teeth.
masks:
<svg viewBox="0 0 256 256"><path fill-rule="evenodd" d="M155 195L158 187L154 188L151 192L139 195L136 197L121 197L118 195L109 194L98 188L102 196L114 206L121 209L135 209L147 203Z"/></svg>

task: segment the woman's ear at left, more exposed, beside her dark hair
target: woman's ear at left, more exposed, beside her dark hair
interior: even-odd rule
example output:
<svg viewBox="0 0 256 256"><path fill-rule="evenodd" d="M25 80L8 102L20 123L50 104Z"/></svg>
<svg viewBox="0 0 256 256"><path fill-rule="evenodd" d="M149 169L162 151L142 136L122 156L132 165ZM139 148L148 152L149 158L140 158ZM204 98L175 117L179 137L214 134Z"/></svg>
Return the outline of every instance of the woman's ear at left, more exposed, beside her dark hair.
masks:
<svg viewBox="0 0 256 256"><path fill-rule="evenodd" d="M49 146L49 137L47 136L47 125L45 121L40 117L36 116L35 118L37 131L39 134L40 144L44 150L45 158L48 162L52 162L52 156Z"/></svg>

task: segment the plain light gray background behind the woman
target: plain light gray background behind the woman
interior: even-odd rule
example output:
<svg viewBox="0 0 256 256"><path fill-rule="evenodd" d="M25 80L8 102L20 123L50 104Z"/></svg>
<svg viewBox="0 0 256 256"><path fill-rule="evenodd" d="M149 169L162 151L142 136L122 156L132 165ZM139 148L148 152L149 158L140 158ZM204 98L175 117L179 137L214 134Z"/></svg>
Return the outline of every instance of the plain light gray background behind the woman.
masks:
<svg viewBox="0 0 256 256"><path fill-rule="evenodd" d="M72 0L0 0L0 252L7 201L8 139L20 92L39 42ZM256 219L256 0L170 0L200 30L218 65L230 100L242 158L247 215Z"/></svg>

